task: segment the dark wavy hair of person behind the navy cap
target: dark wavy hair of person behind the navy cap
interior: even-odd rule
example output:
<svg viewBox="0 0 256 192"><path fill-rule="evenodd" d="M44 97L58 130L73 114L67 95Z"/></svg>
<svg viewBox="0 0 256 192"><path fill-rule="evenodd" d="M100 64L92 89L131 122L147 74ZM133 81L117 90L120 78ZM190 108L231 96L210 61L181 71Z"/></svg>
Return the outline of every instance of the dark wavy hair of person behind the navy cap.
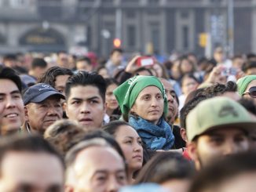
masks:
<svg viewBox="0 0 256 192"><path fill-rule="evenodd" d="M56 78L59 75L72 75L73 72L64 67L50 67L42 76L39 78L38 83L46 83L55 87Z"/></svg>

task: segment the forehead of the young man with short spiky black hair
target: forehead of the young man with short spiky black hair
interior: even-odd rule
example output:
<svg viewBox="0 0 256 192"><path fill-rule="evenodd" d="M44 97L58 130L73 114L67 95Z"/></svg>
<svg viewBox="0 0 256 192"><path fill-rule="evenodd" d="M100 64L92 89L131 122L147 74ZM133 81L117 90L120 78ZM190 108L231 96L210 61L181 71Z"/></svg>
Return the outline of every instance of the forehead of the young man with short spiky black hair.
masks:
<svg viewBox="0 0 256 192"><path fill-rule="evenodd" d="M70 96L69 96L68 100L71 100L72 98L88 99L88 98L91 98L91 97L101 98L100 91L96 86L93 86L93 85L86 85L86 86L78 85L78 86L75 86L75 87L71 87Z"/></svg>

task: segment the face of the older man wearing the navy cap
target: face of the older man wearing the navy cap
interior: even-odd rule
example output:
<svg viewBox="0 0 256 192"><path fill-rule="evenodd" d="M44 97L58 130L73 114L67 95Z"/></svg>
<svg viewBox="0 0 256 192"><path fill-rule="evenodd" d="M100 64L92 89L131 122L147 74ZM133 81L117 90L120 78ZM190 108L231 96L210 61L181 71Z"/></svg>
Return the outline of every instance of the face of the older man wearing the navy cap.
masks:
<svg viewBox="0 0 256 192"><path fill-rule="evenodd" d="M41 103L28 103L25 118L32 131L43 134L49 125L62 118L63 110L59 96L49 96Z"/></svg>

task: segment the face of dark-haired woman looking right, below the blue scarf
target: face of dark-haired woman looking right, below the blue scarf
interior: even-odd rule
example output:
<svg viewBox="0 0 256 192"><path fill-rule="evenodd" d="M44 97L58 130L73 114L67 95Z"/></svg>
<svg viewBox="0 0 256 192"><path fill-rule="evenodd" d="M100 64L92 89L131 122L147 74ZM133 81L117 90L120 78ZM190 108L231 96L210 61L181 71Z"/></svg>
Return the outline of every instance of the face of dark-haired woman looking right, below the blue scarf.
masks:
<svg viewBox="0 0 256 192"><path fill-rule="evenodd" d="M128 125L121 125L115 132L115 140L123 150L128 167L133 171L139 170L143 162L143 149L137 132Z"/></svg>

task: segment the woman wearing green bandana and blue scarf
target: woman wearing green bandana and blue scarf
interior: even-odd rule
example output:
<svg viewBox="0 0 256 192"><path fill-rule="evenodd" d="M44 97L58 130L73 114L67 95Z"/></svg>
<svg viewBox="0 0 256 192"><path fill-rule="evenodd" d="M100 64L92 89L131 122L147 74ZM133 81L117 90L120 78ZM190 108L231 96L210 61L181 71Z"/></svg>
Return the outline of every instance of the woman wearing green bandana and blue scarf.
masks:
<svg viewBox="0 0 256 192"><path fill-rule="evenodd" d="M164 120L167 100L163 84L154 76L138 75L114 90L123 119L137 130L150 150L170 150L174 135Z"/></svg>

